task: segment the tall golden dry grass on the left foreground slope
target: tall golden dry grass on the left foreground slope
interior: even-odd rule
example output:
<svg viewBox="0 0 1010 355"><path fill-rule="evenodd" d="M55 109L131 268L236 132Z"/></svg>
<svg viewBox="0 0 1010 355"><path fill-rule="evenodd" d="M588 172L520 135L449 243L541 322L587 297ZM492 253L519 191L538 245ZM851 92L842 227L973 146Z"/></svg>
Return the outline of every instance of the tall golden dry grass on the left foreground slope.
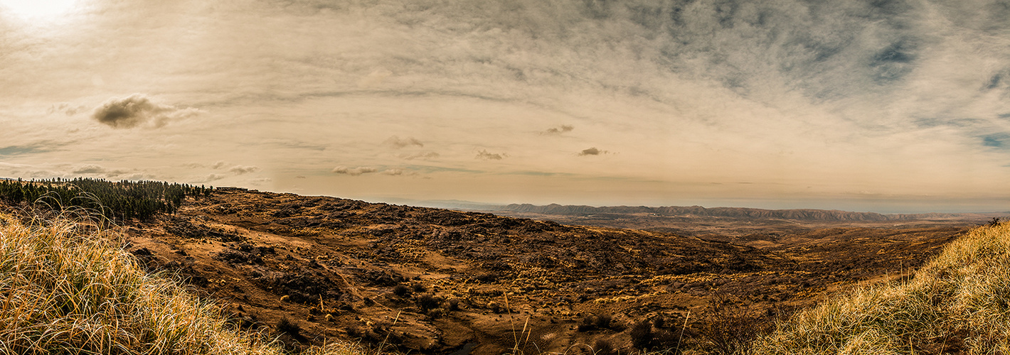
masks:
<svg viewBox="0 0 1010 355"><path fill-rule="evenodd" d="M221 309L150 275L120 234L0 214L0 354L282 354ZM346 344L313 354L357 354Z"/></svg>

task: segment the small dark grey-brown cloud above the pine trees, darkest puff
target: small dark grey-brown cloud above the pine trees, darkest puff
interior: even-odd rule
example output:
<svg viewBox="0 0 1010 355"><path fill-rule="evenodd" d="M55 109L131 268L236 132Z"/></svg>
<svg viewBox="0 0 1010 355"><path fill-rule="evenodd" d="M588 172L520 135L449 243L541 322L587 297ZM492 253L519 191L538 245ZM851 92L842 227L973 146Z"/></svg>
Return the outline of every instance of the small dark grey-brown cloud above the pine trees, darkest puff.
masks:
<svg viewBox="0 0 1010 355"><path fill-rule="evenodd" d="M200 112L195 108L179 109L157 104L143 94L133 94L122 99L109 99L102 106L95 108L91 117L98 123L112 128L133 128L146 124L160 128L169 121L190 117Z"/></svg>

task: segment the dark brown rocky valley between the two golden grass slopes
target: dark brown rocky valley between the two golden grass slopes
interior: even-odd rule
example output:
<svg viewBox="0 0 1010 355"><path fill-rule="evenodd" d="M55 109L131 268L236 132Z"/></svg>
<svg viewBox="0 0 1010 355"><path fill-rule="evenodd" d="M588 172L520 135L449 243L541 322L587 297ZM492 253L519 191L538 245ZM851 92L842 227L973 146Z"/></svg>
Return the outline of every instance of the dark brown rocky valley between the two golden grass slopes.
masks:
<svg viewBox="0 0 1010 355"><path fill-rule="evenodd" d="M727 319L907 274L978 224L788 222L688 235L219 190L125 229L148 268L292 349L344 339L462 355L705 346L753 323Z"/></svg>

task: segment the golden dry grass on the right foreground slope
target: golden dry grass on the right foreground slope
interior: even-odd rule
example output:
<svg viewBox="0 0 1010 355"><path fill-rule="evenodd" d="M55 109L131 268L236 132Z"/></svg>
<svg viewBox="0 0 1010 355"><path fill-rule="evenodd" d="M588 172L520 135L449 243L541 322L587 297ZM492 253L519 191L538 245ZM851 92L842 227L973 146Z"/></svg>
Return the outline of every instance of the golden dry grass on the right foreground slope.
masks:
<svg viewBox="0 0 1010 355"><path fill-rule="evenodd" d="M947 245L912 279L796 315L753 354L1010 354L1010 223Z"/></svg>

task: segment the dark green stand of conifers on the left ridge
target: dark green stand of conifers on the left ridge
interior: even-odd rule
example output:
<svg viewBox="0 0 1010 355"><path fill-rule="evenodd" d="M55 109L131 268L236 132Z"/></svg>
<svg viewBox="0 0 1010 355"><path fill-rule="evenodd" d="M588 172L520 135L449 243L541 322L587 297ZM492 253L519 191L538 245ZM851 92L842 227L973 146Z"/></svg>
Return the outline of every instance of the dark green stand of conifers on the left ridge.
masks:
<svg viewBox="0 0 1010 355"><path fill-rule="evenodd" d="M34 204L53 209L78 207L110 219L148 219L159 213L173 214L186 197L210 196L213 187L165 182L109 182L101 179L0 181L0 200L10 204Z"/></svg>

